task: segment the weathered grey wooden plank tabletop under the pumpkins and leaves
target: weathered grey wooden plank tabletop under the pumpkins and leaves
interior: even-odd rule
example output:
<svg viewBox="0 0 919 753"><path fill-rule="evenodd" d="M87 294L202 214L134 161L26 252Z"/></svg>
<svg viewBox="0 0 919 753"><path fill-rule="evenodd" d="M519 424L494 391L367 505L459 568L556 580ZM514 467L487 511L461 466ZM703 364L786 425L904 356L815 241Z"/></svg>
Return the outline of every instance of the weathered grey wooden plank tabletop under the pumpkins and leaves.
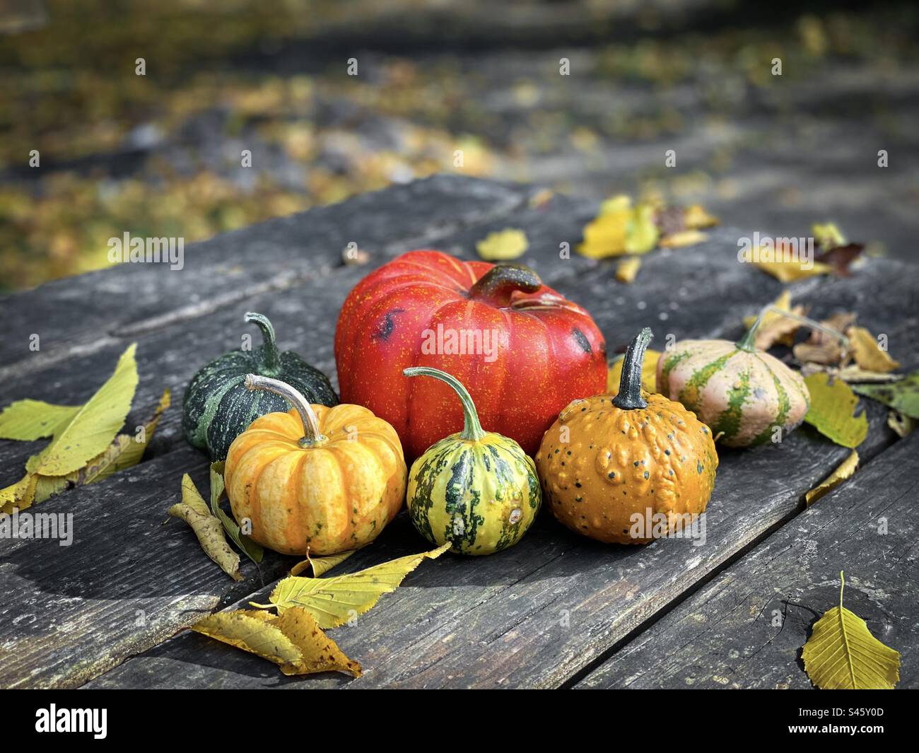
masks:
<svg viewBox="0 0 919 753"><path fill-rule="evenodd" d="M804 427L777 446L719 450L704 545L603 545L544 510L504 553L423 563L357 624L330 633L362 663L360 679L289 679L255 656L177 633L212 610L264 602L296 562L273 553L259 567L244 560L235 583L184 523L164 523L182 473L207 488L208 461L179 428L181 396L207 359L238 347L244 312L268 314L281 347L335 383L338 310L370 268L422 247L471 258L477 240L505 227L527 231L522 261L594 315L610 355L644 325L658 348L668 334L739 337L743 316L782 290L737 262L738 238L754 229L730 226L702 245L652 252L634 284L619 284L614 263L559 258L596 203L556 195L538 207L536 191L432 177L189 245L181 271L125 264L0 300L3 405L82 402L131 342L140 384L127 425L173 391L140 465L33 508L73 512L71 546L0 540L0 687L808 688L800 647L838 602L841 569L846 606L902 653L901 687L919 685L919 433L898 439L886 408L868 400L862 467L809 509L804 493L848 451ZM341 263L352 241L369 265ZM888 335L904 369L919 365L912 266L871 258L851 278L790 287L811 316L855 311L859 324ZM32 334L38 352L28 348ZM17 481L40 446L0 442L0 482ZM336 572L426 548L403 512Z"/></svg>

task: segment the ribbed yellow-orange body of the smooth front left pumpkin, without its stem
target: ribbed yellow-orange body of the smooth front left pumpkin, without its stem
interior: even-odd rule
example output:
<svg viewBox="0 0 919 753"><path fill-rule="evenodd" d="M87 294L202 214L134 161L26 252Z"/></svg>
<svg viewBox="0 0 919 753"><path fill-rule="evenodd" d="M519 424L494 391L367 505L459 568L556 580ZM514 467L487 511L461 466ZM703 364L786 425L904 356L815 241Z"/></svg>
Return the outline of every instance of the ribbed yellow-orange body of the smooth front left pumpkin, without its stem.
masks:
<svg viewBox="0 0 919 753"><path fill-rule="evenodd" d="M372 542L402 508L405 462L395 431L359 405L312 405L328 441L301 448L296 410L269 413L233 440L225 482L233 516L285 554Z"/></svg>

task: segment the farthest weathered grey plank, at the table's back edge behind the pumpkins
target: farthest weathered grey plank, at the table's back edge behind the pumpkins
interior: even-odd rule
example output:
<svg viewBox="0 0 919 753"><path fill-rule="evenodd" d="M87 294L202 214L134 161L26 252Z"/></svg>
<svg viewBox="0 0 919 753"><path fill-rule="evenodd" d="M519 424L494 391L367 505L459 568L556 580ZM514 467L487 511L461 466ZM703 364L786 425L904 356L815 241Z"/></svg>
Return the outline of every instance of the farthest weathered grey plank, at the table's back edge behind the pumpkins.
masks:
<svg viewBox="0 0 919 753"><path fill-rule="evenodd" d="M434 244L466 224L506 214L530 190L440 175L189 244L181 269L122 264L4 296L0 376L322 277L342 265L350 242L378 258ZM33 334L40 336L38 352L29 350Z"/></svg>

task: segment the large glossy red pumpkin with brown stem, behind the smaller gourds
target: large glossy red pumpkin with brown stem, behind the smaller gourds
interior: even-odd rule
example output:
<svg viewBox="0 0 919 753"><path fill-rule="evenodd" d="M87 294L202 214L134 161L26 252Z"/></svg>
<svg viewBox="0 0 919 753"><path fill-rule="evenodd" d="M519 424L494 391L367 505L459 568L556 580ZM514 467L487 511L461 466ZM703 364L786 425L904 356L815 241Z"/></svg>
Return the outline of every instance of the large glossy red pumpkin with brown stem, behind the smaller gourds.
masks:
<svg viewBox="0 0 919 753"><path fill-rule="evenodd" d="M487 431L528 454L565 405L607 385L603 336L590 314L520 265L410 251L348 295L335 330L343 403L365 405L399 433L407 460L463 427L448 385L406 379L426 366L466 385Z"/></svg>

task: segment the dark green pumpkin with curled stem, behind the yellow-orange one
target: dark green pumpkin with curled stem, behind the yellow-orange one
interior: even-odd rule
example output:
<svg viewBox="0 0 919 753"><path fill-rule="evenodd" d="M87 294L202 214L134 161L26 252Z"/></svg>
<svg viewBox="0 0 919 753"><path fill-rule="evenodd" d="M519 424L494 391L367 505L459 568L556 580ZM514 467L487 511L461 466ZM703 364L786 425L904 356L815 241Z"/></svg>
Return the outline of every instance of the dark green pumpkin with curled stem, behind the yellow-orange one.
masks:
<svg viewBox="0 0 919 753"><path fill-rule="evenodd" d="M275 343L275 328L263 314L245 314L255 322L264 342L253 350L233 350L211 360L195 374L182 403L182 429L188 441L210 453L210 459L226 458L233 439L255 418L267 413L286 412L283 397L267 392L250 392L245 375L255 373L287 382L311 403L338 405L338 395L322 371L296 353L281 352Z"/></svg>

